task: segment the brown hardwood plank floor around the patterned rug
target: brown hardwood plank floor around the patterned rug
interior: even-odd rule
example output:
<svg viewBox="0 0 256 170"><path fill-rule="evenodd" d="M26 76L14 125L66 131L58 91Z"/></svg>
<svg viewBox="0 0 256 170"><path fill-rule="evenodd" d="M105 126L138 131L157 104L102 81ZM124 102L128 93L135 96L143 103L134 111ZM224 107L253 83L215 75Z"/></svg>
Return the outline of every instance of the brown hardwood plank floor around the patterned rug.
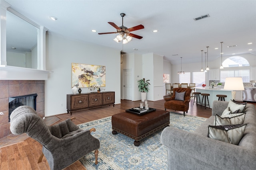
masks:
<svg viewBox="0 0 256 170"><path fill-rule="evenodd" d="M149 107L164 109L164 100L151 102L149 101ZM57 116L46 117L44 120L48 125L58 123L71 117L76 117L73 120L75 124L81 124L96 119L112 116L116 113L123 112L126 109L132 107L138 107L140 101L132 102L128 100L121 100L121 104L107 107L99 107L95 109L89 109L85 111L73 112L73 115L64 113ZM256 104L254 104L256 106ZM168 110L174 111L174 110ZM181 111L175 111L183 114ZM186 115L210 117L212 109L201 106L193 106L193 99L190 102L190 108ZM97 129L96 129L97 130ZM24 135L22 135L22 141L0 148L0 170L50 170L48 162L44 157L41 163L37 163L40 154L42 153L42 145L34 139L27 138L24 141ZM65 170L84 170L84 166L76 161L74 164L65 168Z"/></svg>

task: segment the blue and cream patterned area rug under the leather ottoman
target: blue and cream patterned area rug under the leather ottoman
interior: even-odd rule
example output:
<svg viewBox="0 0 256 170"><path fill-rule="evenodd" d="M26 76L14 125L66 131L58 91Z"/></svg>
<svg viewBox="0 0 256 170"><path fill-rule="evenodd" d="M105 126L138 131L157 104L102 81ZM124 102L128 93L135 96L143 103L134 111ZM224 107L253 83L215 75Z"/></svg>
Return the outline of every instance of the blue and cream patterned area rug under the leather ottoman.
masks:
<svg viewBox="0 0 256 170"><path fill-rule="evenodd" d="M206 118L170 112L170 126L184 131L194 131ZM111 116L78 125L91 129L92 135L100 140L98 164L94 152L80 159L87 170L167 170L167 149L160 142L162 129L141 140L134 146L134 140L120 133L112 134Z"/></svg>

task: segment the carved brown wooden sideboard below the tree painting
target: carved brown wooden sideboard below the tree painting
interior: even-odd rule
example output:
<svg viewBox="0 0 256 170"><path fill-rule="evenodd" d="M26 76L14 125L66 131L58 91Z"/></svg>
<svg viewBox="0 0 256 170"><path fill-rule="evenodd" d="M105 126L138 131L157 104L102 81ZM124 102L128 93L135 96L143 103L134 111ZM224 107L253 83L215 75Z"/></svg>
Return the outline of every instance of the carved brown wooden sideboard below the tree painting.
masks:
<svg viewBox="0 0 256 170"><path fill-rule="evenodd" d="M115 106L115 92L67 94L67 112L82 111L94 107Z"/></svg>

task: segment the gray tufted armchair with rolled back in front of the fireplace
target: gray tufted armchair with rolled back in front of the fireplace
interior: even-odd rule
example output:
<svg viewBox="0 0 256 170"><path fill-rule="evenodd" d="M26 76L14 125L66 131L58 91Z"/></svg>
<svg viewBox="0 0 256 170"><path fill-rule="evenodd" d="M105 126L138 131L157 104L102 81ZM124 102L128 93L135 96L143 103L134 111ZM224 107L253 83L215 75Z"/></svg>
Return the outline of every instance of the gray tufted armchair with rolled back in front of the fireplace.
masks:
<svg viewBox="0 0 256 170"><path fill-rule="evenodd" d="M42 152L51 170L66 168L94 150L95 164L98 163L100 141L89 130L80 129L71 119L47 126L34 109L20 106L10 115L10 130L15 135L27 133L41 143ZM38 162L40 159L42 160L42 156Z"/></svg>

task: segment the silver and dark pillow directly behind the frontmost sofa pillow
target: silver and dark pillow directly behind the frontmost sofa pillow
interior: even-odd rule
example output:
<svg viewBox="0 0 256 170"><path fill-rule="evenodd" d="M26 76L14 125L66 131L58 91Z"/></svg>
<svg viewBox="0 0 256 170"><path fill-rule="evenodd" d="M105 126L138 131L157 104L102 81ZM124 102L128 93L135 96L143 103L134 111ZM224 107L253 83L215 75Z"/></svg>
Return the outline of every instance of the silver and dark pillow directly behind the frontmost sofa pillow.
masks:
<svg viewBox="0 0 256 170"><path fill-rule="evenodd" d="M236 113L230 115L215 115L214 126L218 125L236 125L244 123L246 113Z"/></svg>

